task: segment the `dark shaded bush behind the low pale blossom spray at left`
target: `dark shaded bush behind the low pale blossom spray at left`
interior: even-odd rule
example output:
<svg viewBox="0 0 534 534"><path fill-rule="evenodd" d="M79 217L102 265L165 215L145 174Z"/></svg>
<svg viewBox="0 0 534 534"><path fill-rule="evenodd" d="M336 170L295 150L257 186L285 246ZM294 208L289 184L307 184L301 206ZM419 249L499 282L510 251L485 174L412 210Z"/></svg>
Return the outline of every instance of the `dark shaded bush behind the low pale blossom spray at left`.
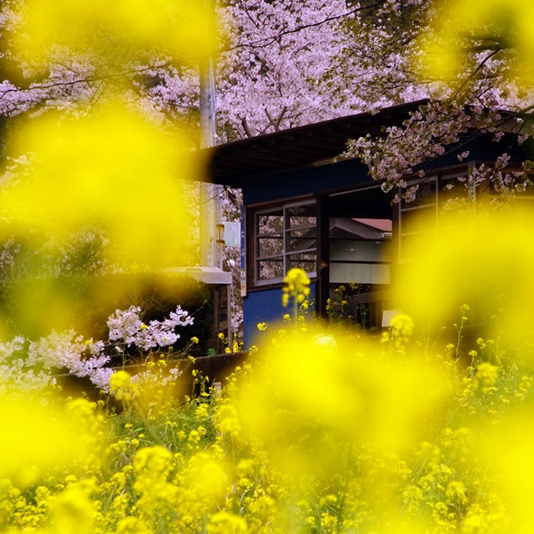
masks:
<svg viewBox="0 0 534 534"><path fill-rule="evenodd" d="M116 287L121 289L116 291ZM31 295L30 303L24 295ZM58 301L68 303L69 313L54 313ZM195 318L187 329L187 336L199 340L194 353L206 353L206 344L214 336L213 299L206 284L188 275L101 273L11 280L4 282L0 292L0 316L6 319L12 336L37 339L52 328L75 328L85 337L103 339L106 320L117 309L139 306L143 320L149 322L163 320L177 303ZM174 350L181 350L188 340L182 337Z"/></svg>

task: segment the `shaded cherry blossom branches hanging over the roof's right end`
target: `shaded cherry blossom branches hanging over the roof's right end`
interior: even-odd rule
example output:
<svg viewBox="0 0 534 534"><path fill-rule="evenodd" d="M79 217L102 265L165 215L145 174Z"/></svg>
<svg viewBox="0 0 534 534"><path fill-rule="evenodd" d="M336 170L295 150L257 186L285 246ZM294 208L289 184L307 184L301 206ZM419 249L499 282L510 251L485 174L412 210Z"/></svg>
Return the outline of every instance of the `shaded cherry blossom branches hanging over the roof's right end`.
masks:
<svg viewBox="0 0 534 534"><path fill-rule="evenodd" d="M465 0L414 3L410 24L400 25L398 55L389 56L398 61L389 71L384 66L387 74L379 85L384 94L393 90L403 95L410 87L424 87L428 101L403 125L389 128L383 137L354 140L347 152L368 164L384 190L398 187L397 200L415 198L417 185L406 181L415 167L456 150L473 136L492 134L498 141L506 133L515 134L519 144L530 136L524 117L534 105L534 85L526 69L525 42L531 41L534 28L525 24L528 16L522 18L530 6L522 0L496 0L479 7ZM393 12L399 20L404 16L402 10ZM388 44L380 49L392 51L392 33L385 31L384 39ZM360 58L358 50L352 57ZM464 152L458 158L468 156ZM473 167L470 184L490 183L506 198L524 191L531 186L530 162L512 169L509 159L504 152L495 166ZM419 177L425 174L419 172Z"/></svg>

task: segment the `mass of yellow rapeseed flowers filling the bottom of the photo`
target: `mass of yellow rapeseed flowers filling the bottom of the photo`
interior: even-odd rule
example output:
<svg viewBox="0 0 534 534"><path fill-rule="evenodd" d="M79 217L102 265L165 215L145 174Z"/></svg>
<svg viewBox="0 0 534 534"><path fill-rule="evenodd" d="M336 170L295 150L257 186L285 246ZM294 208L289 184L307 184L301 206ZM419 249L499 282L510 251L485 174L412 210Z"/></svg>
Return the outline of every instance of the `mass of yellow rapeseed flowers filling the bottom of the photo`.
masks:
<svg viewBox="0 0 534 534"><path fill-rule="evenodd" d="M98 401L4 384L0 529L528 532L534 376L491 339L462 346L465 368L469 312L457 345L405 314L380 337L297 312L262 324L222 392L193 370L195 397L157 356Z"/></svg>

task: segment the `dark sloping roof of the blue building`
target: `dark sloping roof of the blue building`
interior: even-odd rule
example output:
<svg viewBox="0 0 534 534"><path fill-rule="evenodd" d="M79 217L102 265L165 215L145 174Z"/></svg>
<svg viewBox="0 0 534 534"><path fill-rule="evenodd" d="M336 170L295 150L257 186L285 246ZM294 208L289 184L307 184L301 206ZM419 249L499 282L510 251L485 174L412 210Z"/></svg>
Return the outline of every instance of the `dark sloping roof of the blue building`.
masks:
<svg viewBox="0 0 534 534"><path fill-rule="evenodd" d="M349 139L382 134L384 127L400 125L410 111L424 102L334 118L205 149L209 152L206 182L242 187L261 176L322 165L342 154Z"/></svg>

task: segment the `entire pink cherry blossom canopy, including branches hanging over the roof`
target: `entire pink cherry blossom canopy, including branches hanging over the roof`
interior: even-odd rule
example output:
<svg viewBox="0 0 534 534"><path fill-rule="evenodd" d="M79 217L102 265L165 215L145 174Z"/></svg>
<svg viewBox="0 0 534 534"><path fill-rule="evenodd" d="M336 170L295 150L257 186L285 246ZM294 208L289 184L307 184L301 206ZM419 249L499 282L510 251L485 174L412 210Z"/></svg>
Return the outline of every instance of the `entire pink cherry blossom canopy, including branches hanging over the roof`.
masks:
<svg viewBox="0 0 534 534"><path fill-rule="evenodd" d="M504 9L499 2L491 5L502 4ZM178 62L153 50L144 54L117 50L102 61L83 50L59 46L42 64L20 61L9 44L20 24L21 4L23 0L6 0L0 15L1 117L39 115L46 109L85 115L106 98L109 88L117 88L133 106L162 124L187 125L191 146L198 146L198 57ZM465 0L219 0L215 54L219 141L424 98L426 103L404 125L384 136L354 140L347 152L365 161L385 190L398 187L398 198L407 199L417 194L417 187L407 182L414 169L448 147L461 145L475 130L496 139L513 131L522 142L529 132L515 117L530 110L531 85L517 75L517 69L510 69L521 46L511 38L513 30L510 34L509 28L478 15L465 17L476 24L464 28L465 4ZM512 4L517 14L525 2ZM447 41L443 28L462 31ZM449 70L441 68L449 56L433 53L446 51L433 45L440 39L459 43L465 53L461 63ZM473 173L480 181L482 176L492 180L498 190L523 190L529 185L528 169L508 172L508 158L505 153L497 166ZM14 173L17 162L9 164ZM239 191L225 192L226 218L237 217L239 202ZM234 253L227 250L228 268L238 263Z"/></svg>

